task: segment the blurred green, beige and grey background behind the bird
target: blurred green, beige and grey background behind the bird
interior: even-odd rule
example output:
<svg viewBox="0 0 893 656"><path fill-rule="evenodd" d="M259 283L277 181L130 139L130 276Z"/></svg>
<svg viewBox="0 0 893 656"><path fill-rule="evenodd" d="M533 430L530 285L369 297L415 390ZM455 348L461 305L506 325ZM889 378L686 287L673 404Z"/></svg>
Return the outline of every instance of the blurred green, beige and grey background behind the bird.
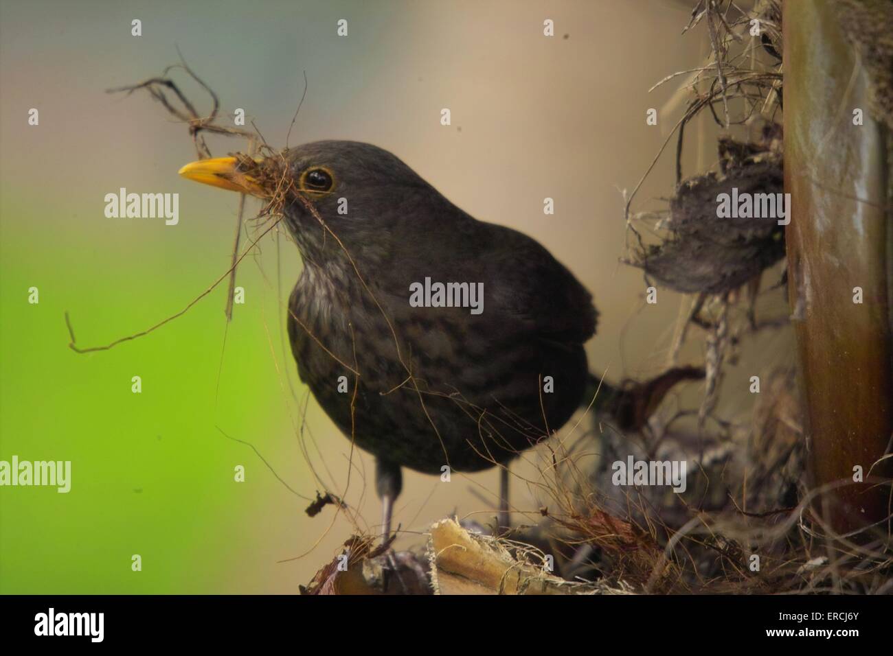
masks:
<svg viewBox="0 0 893 656"><path fill-rule="evenodd" d="M312 399L305 411L283 351L281 303L300 268L284 236L267 237L238 270L246 303L225 350L225 286L150 336L88 355L67 347L66 310L89 346L183 308L229 266L238 207L238 195L177 176L195 159L184 126L148 95L104 89L160 74L179 46L221 112L244 108L283 145L306 71L293 144L381 145L473 215L538 238L596 296L591 366L617 379L659 369L679 310L667 295L642 319L641 275L617 259L620 189L638 181L676 120L645 125L646 109L672 91L647 89L705 52L702 37L679 37L689 10L659 0L2 0L0 459L70 460L72 481L69 494L0 488L0 592L292 593L352 530L343 516L332 523L331 507L315 519L304 512L319 487L311 464L343 491L349 443ZM135 18L141 37L130 35ZM348 37L336 36L341 18ZM554 38L542 36L546 18ZM442 107L451 127L439 124ZM210 144L214 154L243 147ZM687 153L688 170L711 150ZM643 198L669 194L672 162L663 169ZM105 218L104 195L119 187L179 193L179 225ZM546 196L555 216L542 212ZM142 394L131 393L133 376ZM319 445L309 464L302 424ZM254 444L301 497L218 427ZM244 483L233 480L239 464ZM371 526L371 460L355 466L346 500ZM408 531L401 544L419 543L413 531L448 513L486 521L496 489L495 472L450 485L409 474L396 508ZM513 503L537 507L520 484Z"/></svg>

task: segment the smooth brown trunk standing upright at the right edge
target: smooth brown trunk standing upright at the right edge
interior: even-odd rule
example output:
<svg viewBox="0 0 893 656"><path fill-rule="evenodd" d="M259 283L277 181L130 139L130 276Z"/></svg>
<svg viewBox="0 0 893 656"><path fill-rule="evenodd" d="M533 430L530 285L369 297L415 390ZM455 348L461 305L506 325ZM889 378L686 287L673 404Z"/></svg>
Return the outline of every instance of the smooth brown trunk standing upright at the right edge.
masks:
<svg viewBox="0 0 893 656"><path fill-rule="evenodd" d="M875 522L886 532L890 488L876 484L890 461L868 474L893 432L889 135L868 111L870 81L834 4L783 5L789 297L812 485L839 485L822 494L822 515L841 533Z"/></svg>

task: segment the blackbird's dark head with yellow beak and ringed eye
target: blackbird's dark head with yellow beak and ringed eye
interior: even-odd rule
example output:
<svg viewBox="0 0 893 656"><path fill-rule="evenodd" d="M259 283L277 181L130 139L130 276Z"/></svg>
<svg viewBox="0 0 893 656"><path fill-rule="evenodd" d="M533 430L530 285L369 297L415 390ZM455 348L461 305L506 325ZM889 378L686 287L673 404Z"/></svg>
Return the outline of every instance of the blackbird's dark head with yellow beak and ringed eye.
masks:
<svg viewBox="0 0 893 656"><path fill-rule="evenodd" d="M381 262L396 239L430 238L444 228L431 222L456 212L394 154L356 141L316 141L261 160L241 154L199 160L179 174L272 201L308 261L330 260L346 248Z"/></svg>

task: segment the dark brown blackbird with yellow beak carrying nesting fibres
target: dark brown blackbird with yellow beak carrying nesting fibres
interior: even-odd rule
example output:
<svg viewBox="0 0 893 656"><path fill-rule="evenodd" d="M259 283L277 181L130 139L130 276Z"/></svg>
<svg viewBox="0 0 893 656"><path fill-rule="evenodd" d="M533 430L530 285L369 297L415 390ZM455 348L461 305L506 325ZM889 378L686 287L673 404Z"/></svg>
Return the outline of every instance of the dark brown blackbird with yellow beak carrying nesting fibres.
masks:
<svg viewBox="0 0 893 656"><path fill-rule="evenodd" d="M288 301L298 374L375 456L384 536L402 467L500 466L505 526L508 462L561 428L586 389L591 295L537 241L474 219L380 147L318 141L275 157L286 185L244 155L179 173L280 195L304 262Z"/></svg>

